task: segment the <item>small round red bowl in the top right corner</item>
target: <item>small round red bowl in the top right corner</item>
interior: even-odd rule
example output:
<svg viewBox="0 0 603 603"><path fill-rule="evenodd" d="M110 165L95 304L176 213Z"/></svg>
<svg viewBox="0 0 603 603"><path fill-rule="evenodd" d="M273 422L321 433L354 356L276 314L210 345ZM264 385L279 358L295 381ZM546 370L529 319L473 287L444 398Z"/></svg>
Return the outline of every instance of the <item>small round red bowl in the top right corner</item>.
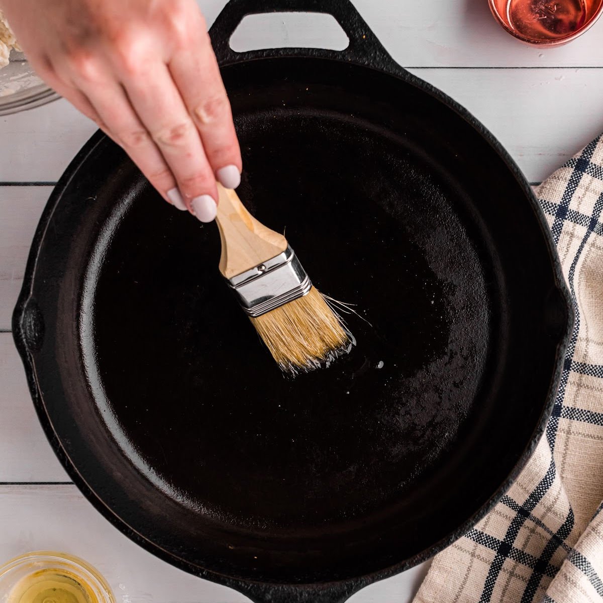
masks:
<svg viewBox="0 0 603 603"><path fill-rule="evenodd" d="M488 0L488 4L512 36L542 46L570 42L603 12L603 0Z"/></svg>

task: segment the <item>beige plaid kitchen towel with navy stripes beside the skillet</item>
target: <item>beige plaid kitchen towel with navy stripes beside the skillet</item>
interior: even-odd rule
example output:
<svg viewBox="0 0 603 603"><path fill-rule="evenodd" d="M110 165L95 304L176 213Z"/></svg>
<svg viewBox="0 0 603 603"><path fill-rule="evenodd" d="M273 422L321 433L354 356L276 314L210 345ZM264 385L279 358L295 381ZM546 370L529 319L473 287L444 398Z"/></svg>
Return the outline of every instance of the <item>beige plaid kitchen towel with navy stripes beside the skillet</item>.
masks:
<svg viewBox="0 0 603 603"><path fill-rule="evenodd" d="M603 134L535 189L576 322L545 436L414 603L603 601Z"/></svg>

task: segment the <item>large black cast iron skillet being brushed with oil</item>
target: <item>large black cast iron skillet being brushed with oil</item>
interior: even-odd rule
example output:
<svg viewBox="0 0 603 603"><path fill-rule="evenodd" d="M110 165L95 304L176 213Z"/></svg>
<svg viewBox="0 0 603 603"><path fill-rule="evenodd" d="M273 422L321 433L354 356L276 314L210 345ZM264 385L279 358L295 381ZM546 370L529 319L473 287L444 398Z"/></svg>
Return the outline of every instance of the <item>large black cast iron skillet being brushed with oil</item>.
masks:
<svg viewBox="0 0 603 603"><path fill-rule="evenodd" d="M240 195L357 346L283 378L221 282L213 224L95 134L42 216L14 336L55 452L134 541L257 602L344 601L472 526L543 432L571 323L548 227L469 113L349 2L233 0L211 30ZM235 54L257 10L328 11L343 52Z"/></svg>

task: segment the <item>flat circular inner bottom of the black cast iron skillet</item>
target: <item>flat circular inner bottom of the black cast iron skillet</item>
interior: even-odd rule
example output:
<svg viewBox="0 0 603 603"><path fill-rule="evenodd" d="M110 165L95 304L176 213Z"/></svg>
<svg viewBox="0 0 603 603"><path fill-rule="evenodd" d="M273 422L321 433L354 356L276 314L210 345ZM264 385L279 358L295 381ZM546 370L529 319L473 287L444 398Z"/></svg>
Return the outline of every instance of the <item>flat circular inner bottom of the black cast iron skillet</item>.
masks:
<svg viewBox="0 0 603 603"><path fill-rule="evenodd" d="M219 276L215 225L150 190L110 239L87 328L113 436L168 496L252 531L337 531L412 496L471 428L490 277L463 198L400 140L329 113L273 119L239 122L239 195L355 305L352 353L283 377Z"/></svg>

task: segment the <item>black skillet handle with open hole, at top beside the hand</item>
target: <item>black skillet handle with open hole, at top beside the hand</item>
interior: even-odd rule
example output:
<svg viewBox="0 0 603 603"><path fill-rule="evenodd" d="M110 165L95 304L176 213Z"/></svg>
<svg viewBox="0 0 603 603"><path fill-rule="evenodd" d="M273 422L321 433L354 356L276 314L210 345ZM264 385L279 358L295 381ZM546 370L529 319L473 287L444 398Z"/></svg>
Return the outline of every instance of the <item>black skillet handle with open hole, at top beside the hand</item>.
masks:
<svg viewBox="0 0 603 603"><path fill-rule="evenodd" d="M335 18L350 40L346 49L268 48L235 52L230 37L248 14L326 13ZM394 74L406 74L370 30L350 0L230 0L209 30L213 49L221 67L256 58L318 57L358 63Z"/></svg>

